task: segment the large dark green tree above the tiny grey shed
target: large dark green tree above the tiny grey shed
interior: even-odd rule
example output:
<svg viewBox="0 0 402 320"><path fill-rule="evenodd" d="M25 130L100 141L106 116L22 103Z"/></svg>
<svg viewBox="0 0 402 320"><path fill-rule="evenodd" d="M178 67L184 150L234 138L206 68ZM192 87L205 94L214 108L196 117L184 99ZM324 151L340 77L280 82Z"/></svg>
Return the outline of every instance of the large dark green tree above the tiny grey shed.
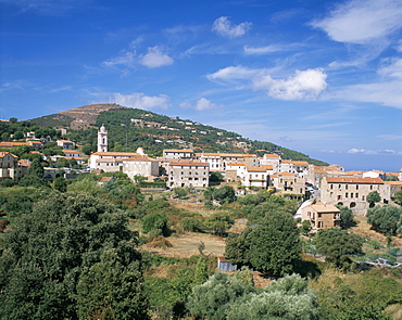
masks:
<svg viewBox="0 0 402 320"><path fill-rule="evenodd" d="M300 259L299 230L291 215L269 213L256 227L249 227L240 235L229 238L225 257L279 277L292 272Z"/></svg>

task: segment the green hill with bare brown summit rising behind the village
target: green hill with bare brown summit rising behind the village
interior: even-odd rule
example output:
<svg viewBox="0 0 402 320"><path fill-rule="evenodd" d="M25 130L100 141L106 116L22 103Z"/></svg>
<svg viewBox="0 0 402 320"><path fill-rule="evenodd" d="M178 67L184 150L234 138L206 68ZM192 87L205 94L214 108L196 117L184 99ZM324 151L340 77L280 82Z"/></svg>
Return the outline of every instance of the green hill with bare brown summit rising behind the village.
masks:
<svg viewBox="0 0 402 320"><path fill-rule="evenodd" d="M277 144L249 140L239 133L202 125L190 119L168 117L118 104L90 104L29 120L39 126L68 129L68 138L81 144L97 143L97 128L109 131L111 151L136 151L143 146L149 155L160 156L163 149L192 149L196 152L277 153L281 158L327 163Z"/></svg>

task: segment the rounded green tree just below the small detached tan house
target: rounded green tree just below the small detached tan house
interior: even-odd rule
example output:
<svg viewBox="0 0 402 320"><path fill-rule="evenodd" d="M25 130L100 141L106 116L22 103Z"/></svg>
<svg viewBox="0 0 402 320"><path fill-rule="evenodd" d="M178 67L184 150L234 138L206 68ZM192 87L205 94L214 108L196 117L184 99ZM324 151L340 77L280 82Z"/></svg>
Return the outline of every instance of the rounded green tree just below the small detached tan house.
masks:
<svg viewBox="0 0 402 320"><path fill-rule="evenodd" d="M325 256L326 261L343 269L352 261L350 255L362 253L363 242L359 234L338 228L322 229L314 240L317 252Z"/></svg>

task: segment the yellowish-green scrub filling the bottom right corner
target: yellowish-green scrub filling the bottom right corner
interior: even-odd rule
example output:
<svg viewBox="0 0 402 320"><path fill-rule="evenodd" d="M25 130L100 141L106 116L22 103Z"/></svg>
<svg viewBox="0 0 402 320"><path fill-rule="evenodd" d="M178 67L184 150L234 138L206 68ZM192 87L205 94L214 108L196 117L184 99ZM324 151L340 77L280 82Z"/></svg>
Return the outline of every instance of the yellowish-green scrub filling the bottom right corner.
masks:
<svg viewBox="0 0 402 320"><path fill-rule="evenodd" d="M397 269L373 269L348 273L348 277L326 269L322 277L311 280L310 285L318 294L322 319L390 320L392 318L384 310L395 307L393 319L398 319L398 304L402 302L400 277Z"/></svg>

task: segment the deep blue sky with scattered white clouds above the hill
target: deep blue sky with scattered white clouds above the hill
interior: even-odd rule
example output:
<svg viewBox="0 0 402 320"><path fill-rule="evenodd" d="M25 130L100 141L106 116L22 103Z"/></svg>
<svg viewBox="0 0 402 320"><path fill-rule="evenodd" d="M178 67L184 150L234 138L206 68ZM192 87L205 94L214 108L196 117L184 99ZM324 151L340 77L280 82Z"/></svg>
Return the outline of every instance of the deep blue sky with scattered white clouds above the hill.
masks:
<svg viewBox="0 0 402 320"><path fill-rule="evenodd" d="M99 102L402 167L402 1L0 0L0 117Z"/></svg>

